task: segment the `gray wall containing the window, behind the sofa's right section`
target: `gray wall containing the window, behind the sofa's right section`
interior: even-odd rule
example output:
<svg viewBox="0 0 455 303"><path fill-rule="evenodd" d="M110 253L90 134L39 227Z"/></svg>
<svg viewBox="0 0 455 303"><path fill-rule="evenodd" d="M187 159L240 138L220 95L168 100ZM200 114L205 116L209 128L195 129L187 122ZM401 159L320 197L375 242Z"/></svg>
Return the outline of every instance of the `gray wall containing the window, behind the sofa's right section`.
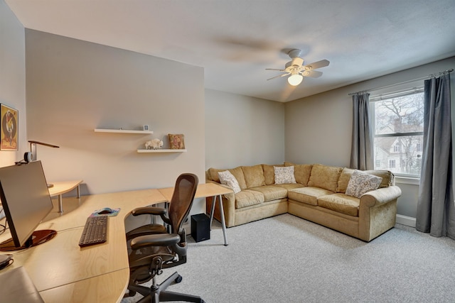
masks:
<svg viewBox="0 0 455 303"><path fill-rule="evenodd" d="M410 81L451 68L455 68L455 57L287 103L286 160L349 166L352 132L352 97L348 96L349 93ZM453 96L454 75L451 88ZM452 102L455 102L453 97ZM418 184L397 180L397 185L403 192L398 199L398 214L415 218Z"/></svg>

